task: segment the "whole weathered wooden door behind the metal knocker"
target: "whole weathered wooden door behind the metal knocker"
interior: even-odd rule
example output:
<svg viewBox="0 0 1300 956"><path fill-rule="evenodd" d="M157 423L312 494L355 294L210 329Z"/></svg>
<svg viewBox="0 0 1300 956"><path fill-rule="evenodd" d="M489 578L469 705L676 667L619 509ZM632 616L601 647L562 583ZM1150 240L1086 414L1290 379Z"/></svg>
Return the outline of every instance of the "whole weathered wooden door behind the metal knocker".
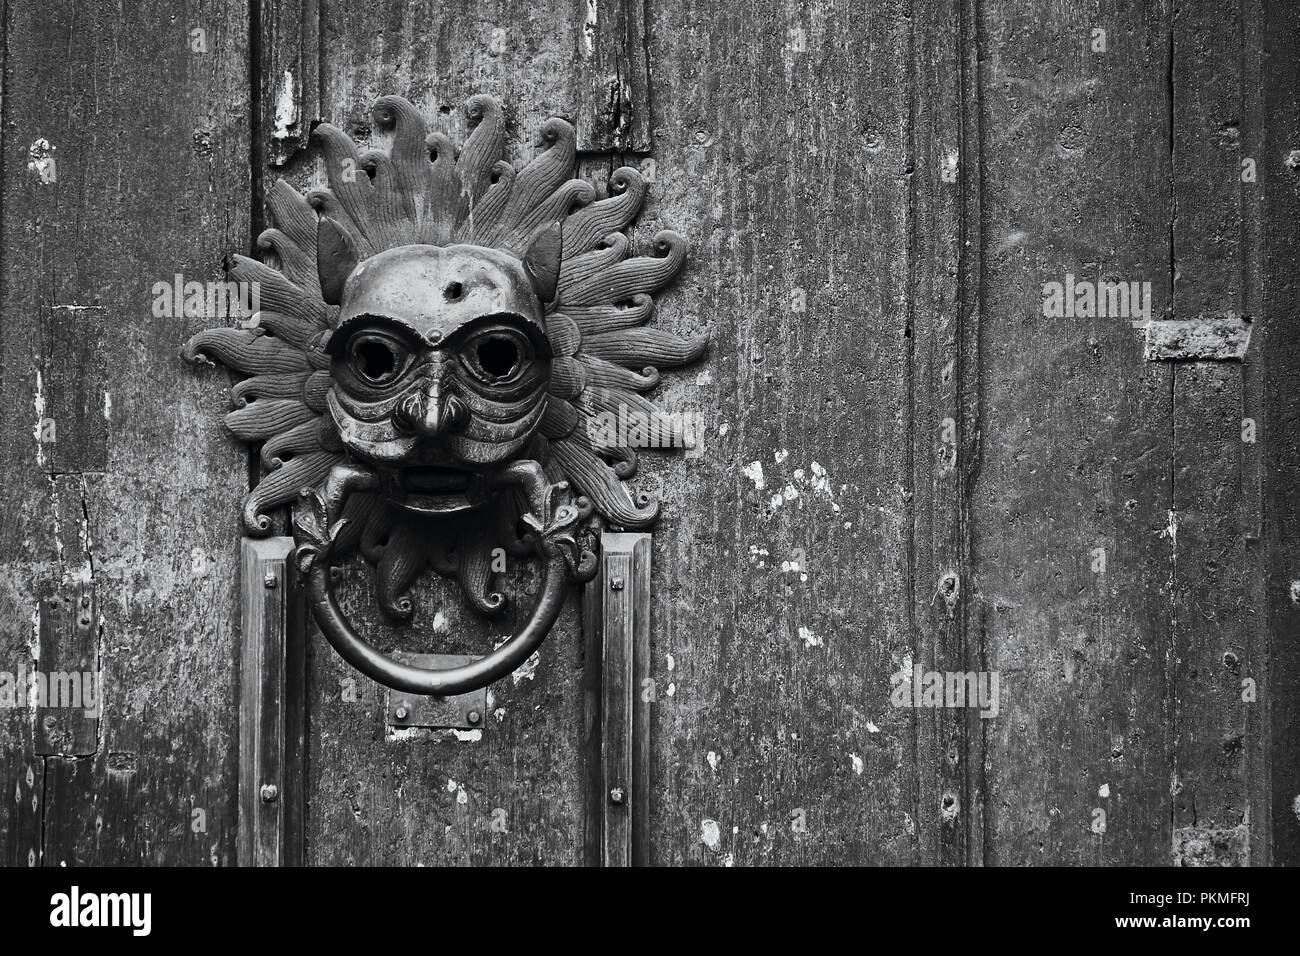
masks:
<svg viewBox="0 0 1300 956"><path fill-rule="evenodd" d="M664 502L651 862L1294 862L1287 14L6 4L0 671L100 674L103 706L0 713L0 860L235 862L259 468L220 427L229 373L176 358L203 323L153 287L220 280L276 181L322 182L317 122L384 147L399 94L460 140L488 92L516 164L559 114L602 194L641 170L633 246L690 245L655 323L711 339L655 393L702 454L636 479ZM1049 313L1087 282L1136 298ZM428 580L391 627L368 574L344 604L385 648L481 654L519 620ZM592 861L582 618L575 589L474 731L394 730L303 635L294 855ZM918 670L996 674L997 713L894 700Z"/></svg>

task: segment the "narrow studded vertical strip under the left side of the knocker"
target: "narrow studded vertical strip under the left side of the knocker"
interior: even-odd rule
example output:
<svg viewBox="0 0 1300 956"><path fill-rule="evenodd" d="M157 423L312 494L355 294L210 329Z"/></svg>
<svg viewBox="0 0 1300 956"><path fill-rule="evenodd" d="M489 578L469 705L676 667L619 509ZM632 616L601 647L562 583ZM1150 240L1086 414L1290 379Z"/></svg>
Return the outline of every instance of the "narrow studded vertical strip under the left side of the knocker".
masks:
<svg viewBox="0 0 1300 956"><path fill-rule="evenodd" d="M291 537L243 538L240 866L302 865L304 606Z"/></svg>

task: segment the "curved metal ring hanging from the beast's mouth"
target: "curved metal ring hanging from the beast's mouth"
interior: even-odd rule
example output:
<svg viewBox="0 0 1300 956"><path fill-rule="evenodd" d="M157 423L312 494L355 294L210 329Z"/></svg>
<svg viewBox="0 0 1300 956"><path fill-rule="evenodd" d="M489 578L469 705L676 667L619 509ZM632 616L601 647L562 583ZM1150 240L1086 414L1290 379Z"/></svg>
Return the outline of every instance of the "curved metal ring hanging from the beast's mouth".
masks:
<svg viewBox="0 0 1300 956"><path fill-rule="evenodd" d="M367 644L352 630L347 615L334 600L326 562L316 562L308 570L307 600L312 617L320 624L325 639L344 661L361 674L395 691L447 697L486 687L524 663L546 640L546 635L550 633L551 626L559 617L560 607L564 606L564 589L568 585L568 579L569 572L564 557L559 550L551 550L546 557L546 583L533 607L533 614L523 630L486 657L481 657L473 663L445 670L413 667L395 661Z"/></svg>

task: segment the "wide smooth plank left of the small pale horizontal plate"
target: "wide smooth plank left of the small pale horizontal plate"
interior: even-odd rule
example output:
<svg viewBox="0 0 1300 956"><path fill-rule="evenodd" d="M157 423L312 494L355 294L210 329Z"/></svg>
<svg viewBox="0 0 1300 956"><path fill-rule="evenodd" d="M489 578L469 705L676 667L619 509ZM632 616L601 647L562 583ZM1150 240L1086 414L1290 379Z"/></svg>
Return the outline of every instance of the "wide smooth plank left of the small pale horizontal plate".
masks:
<svg viewBox="0 0 1300 956"><path fill-rule="evenodd" d="M1076 277L1169 304L1170 16L979 5L989 864L1169 862L1170 369L1143 358L1144 316L1044 298Z"/></svg>

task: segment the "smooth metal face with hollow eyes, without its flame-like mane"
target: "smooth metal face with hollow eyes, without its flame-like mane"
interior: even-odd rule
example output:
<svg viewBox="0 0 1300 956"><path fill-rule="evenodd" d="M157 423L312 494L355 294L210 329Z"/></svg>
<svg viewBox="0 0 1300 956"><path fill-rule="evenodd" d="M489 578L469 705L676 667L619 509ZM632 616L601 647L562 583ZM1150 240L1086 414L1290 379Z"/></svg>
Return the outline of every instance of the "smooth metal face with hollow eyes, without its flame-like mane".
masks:
<svg viewBox="0 0 1300 956"><path fill-rule="evenodd" d="M478 246L399 246L347 280L326 397L343 445L386 472L399 507L474 507L478 479L517 457L551 371L517 259Z"/></svg>

